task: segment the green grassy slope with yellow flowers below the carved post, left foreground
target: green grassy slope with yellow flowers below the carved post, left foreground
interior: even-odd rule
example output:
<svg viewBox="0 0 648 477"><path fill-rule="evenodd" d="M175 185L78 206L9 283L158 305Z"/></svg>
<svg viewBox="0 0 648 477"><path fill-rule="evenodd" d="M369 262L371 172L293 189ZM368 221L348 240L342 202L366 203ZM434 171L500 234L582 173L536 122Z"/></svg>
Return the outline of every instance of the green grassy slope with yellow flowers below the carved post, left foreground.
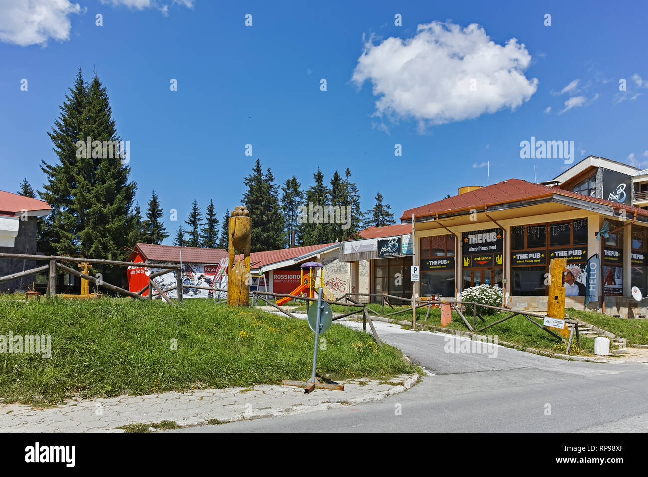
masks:
<svg viewBox="0 0 648 477"><path fill-rule="evenodd" d="M52 336L52 357L0 353L0 397L45 405L73 395L113 397L250 387L310 376L314 334L304 320L204 300L0 298L0 335ZM334 324L319 374L384 379L419 369L398 349ZM177 339L177 350L172 349Z"/></svg>

